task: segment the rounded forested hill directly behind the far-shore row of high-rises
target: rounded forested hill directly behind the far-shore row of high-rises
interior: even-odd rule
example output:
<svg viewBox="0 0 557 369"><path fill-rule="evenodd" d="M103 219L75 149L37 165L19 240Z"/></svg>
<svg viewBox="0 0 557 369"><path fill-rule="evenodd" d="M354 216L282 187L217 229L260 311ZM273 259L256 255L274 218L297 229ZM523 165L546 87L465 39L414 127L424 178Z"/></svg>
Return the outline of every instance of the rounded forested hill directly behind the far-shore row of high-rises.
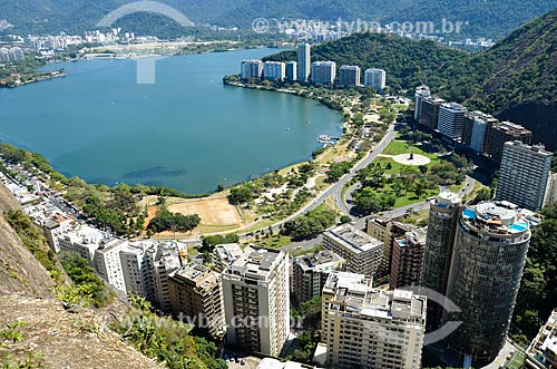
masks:
<svg viewBox="0 0 557 369"><path fill-rule="evenodd" d="M295 60L296 51L283 51L265 60ZM410 90L427 84L432 90L452 99L468 97L461 77L475 71L472 56L436 41L413 40L387 33L355 33L312 48L312 60L333 60L341 65L358 65L362 70L381 68L387 71L392 91ZM457 84L458 81L458 84ZM455 86L462 88L453 88Z"/></svg>

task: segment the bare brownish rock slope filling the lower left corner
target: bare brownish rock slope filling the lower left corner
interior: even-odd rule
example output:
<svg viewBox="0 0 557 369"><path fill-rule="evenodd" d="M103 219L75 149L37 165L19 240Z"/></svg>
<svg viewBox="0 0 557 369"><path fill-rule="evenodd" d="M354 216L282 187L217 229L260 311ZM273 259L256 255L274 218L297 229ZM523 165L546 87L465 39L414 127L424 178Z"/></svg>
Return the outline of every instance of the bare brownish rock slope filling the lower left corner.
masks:
<svg viewBox="0 0 557 369"><path fill-rule="evenodd" d="M47 270L6 221L9 210L20 206L0 183L0 330L23 322L19 328L23 340L10 344L9 362L40 353L43 368L52 369L160 368L109 329L125 318L124 303L116 301L104 310L63 308L51 293L55 283ZM0 355L0 366L2 359Z"/></svg>

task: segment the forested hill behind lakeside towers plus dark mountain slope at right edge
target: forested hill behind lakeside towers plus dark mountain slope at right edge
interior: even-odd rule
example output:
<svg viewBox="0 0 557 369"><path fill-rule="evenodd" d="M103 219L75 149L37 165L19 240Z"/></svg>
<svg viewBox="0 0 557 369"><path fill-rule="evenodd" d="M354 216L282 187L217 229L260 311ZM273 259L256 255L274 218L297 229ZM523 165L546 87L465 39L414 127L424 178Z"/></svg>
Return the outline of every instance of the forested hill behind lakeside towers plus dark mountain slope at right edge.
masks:
<svg viewBox="0 0 557 369"><path fill-rule="evenodd" d="M356 33L313 48L313 60L387 70L393 91L436 95L530 128L534 142L557 147L557 10L529 21L489 50L467 54L437 42ZM295 60L294 51L270 57Z"/></svg>

